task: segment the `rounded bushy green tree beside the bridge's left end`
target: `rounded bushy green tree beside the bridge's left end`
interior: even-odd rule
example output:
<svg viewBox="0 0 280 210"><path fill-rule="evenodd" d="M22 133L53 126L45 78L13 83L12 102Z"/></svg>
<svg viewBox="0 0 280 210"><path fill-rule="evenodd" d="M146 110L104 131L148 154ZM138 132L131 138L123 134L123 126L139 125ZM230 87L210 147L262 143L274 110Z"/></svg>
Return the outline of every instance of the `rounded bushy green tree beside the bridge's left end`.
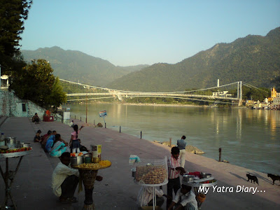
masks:
<svg viewBox="0 0 280 210"><path fill-rule="evenodd" d="M58 78L52 75L52 67L45 59L34 59L20 71L13 74L10 89L22 99L49 109L66 101L66 94L59 85Z"/></svg>

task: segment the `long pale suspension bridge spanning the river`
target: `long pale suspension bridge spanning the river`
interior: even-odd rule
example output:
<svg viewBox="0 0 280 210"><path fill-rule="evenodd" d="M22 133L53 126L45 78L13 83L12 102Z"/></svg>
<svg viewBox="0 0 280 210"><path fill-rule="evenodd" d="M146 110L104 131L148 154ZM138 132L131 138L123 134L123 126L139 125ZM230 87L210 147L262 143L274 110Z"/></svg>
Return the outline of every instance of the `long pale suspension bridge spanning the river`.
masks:
<svg viewBox="0 0 280 210"><path fill-rule="evenodd" d="M188 99L204 102L216 102L232 104L233 102L241 104L242 101L242 85L254 87L241 81L230 83L227 85L219 85L216 87L204 88L201 90L188 90L181 92L135 92L125 90L113 90L106 87L96 87L82 83L75 83L69 80L59 79L66 92L67 101L82 101L92 99L109 99L118 98L120 101L124 97L165 97L174 99ZM83 98L82 98L83 97Z"/></svg>

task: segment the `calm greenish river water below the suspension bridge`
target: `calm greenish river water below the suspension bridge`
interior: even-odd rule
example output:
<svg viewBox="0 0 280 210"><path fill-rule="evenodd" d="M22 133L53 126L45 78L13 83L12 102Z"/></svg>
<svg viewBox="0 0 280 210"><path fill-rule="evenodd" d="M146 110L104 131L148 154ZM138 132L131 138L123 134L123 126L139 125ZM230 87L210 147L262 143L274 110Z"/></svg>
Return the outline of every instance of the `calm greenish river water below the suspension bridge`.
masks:
<svg viewBox="0 0 280 210"><path fill-rule="evenodd" d="M85 104L67 106L71 118L85 121ZM149 141L169 141L186 135L187 144L204 156L258 172L280 174L280 111L217 109L187 106L134 106L88 104L87 123L102 123L99 111L106 110L106 127ZM75 123L75 121L74 121ZM141 140L139 140L141 141Z"/></svg>

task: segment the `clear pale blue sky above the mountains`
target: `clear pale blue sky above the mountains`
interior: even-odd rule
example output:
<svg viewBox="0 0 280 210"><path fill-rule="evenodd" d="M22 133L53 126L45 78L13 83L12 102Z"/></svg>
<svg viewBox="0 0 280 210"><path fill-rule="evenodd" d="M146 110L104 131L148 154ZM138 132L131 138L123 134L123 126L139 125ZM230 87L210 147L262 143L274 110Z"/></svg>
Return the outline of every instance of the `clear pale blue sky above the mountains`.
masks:
<svg viewBox="0 0 280 210"><path fill-rule="evenodd" d="M116 66L174 64L280 27L280 0L34 0L22 50L59 46Z"/></svg>

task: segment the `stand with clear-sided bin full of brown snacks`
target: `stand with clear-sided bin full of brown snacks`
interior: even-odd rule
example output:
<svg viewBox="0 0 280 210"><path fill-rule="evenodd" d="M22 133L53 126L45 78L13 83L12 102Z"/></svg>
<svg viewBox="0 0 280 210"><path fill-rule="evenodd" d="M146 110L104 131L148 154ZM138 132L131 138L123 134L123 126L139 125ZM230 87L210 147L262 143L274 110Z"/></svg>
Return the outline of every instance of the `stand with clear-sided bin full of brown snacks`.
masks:
<svg viewBox="0 0 280 210"><path fill-rule="evenodd" d="M132 169L134 183L141 186L153 187L153 210L156 206L155 187L168 183L167 158L163 160L142 160ZM135 171L135 172L134 172ZM144 188L143 188L144 190ZM143 198L143 197L142 197ZM142 203L143 201L141 201Z"/></svg>

